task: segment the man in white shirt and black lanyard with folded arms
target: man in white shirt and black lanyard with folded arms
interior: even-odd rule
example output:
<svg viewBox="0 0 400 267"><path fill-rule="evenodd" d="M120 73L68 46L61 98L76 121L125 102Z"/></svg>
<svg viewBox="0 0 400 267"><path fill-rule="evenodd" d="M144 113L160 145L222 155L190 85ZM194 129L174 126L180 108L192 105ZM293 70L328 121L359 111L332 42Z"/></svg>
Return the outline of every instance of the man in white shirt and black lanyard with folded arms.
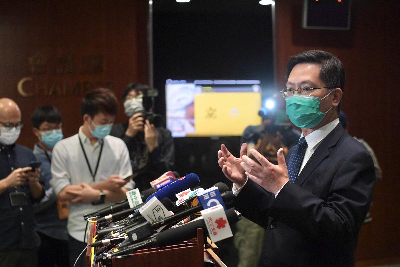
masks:
<svg viewBox="0 0 400 267"><path fill-rule="evenodd" d="M81 104L83 125L79 132L59 141L52 155L51 185L59 200L70 201L68 234L70 264L86 246L83 215L126 198L134 182L125 143L108 135L118 102L111 90L95 89ZM80 262L80 264L79 264ZM83 257L77 266L84 266Z"/></svg>

